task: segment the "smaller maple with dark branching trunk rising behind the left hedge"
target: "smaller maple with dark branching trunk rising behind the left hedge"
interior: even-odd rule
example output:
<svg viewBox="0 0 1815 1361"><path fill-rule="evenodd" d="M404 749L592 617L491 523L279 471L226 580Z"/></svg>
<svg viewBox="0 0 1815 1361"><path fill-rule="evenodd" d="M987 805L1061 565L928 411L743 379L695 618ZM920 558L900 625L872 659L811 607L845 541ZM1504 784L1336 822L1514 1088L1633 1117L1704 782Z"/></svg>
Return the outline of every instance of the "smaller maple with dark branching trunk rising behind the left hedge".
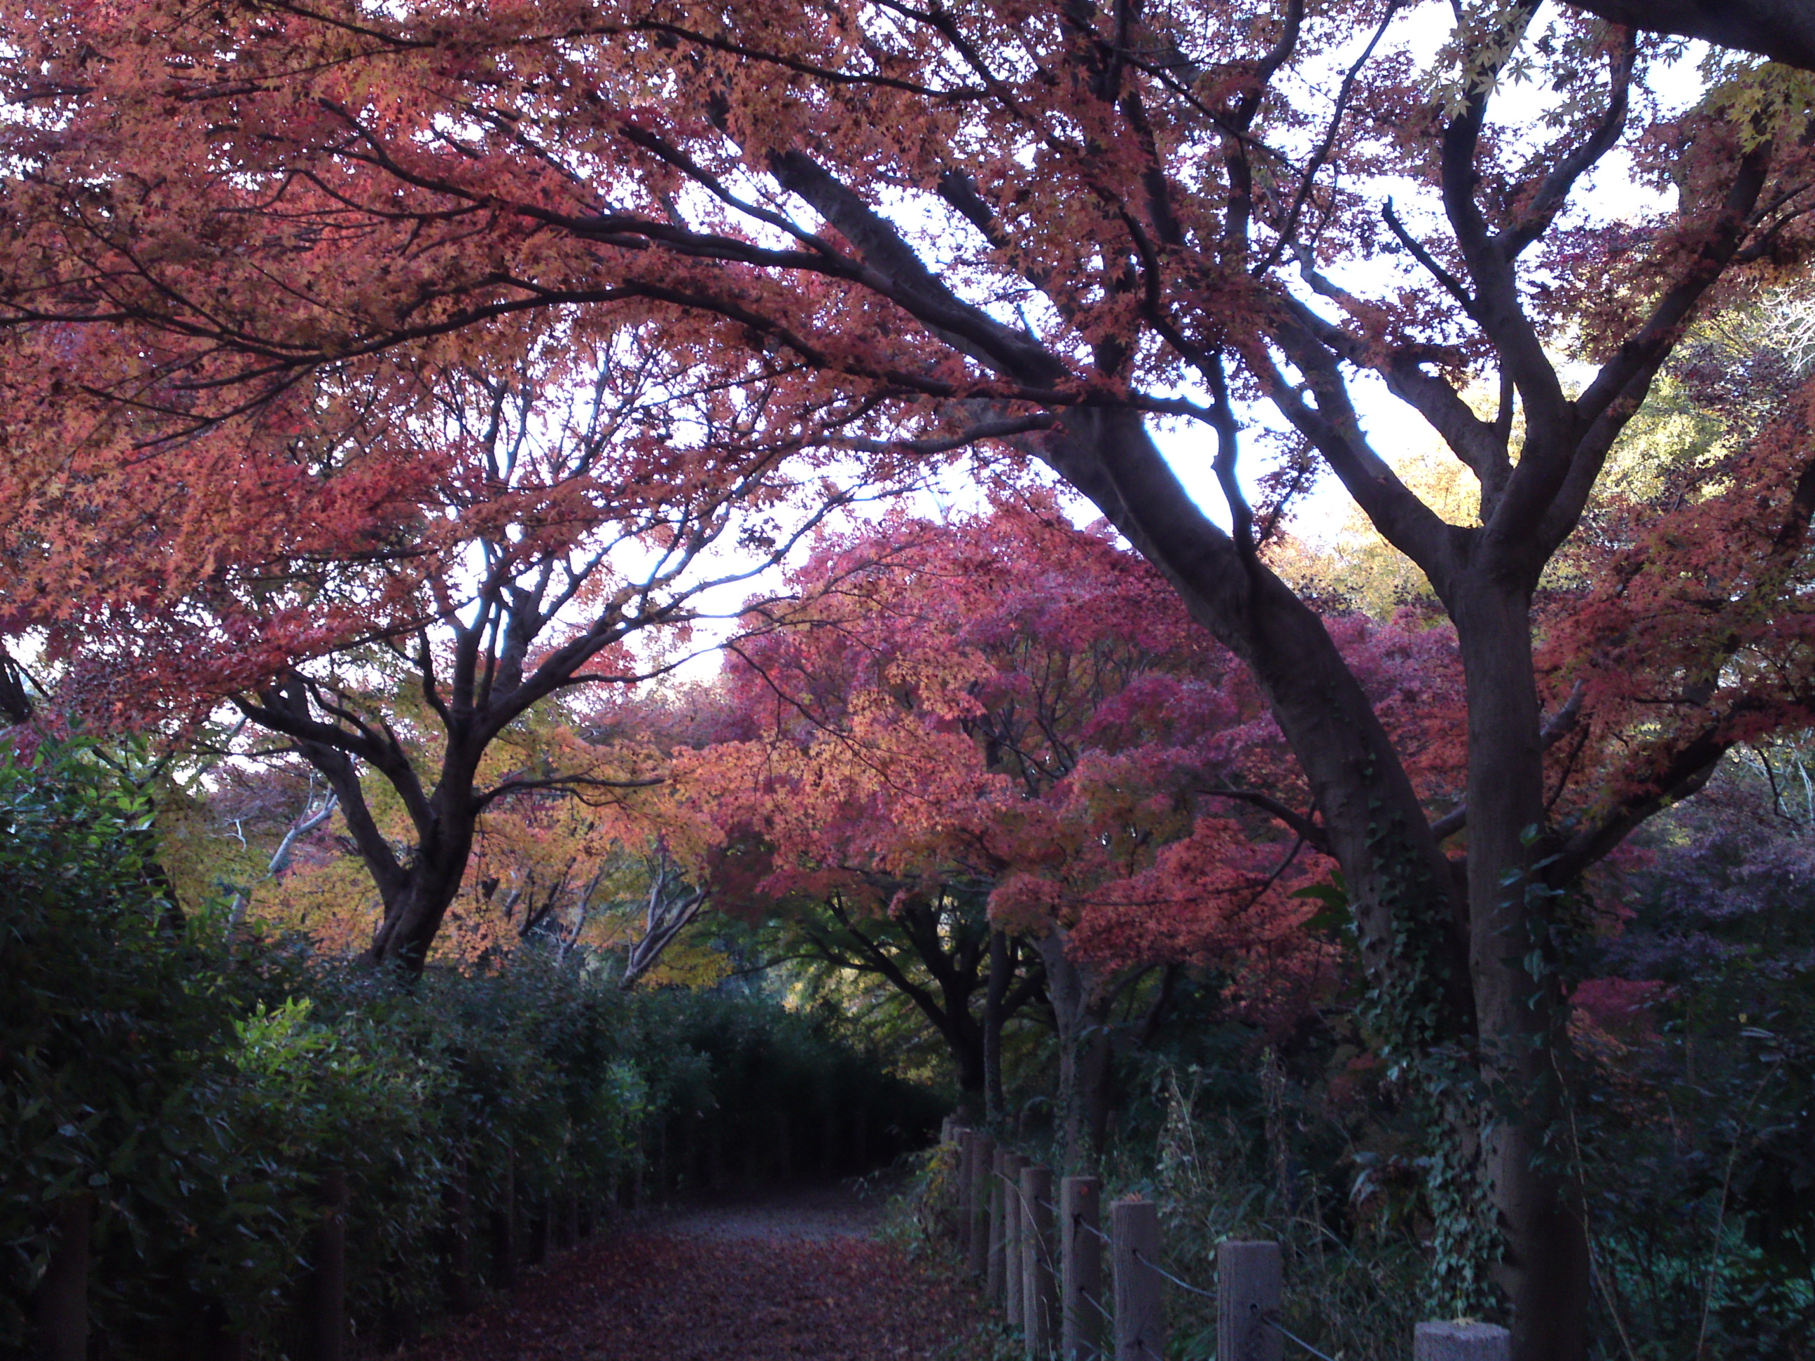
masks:
<svg viewBox="0 0 1815 1361"><path fill-rule="evenodd" d="M702 592L760 572L844 503L808 463L806 486L784 479L768 441L788 436L760 430L759 401L722 370L659 372L633 339L603 354L543 345L510 367L425 367L412 412L352 432L423 450L421 481L350 524L307 524L314 506L299 506L290 532L309 535L307 552L221 553L200 588L65 608L45 639L65 662L67 708L109 717L143 713L149 695L178 713L225 700L245 720L234 749L299 755L332 791L381 902L365 958L416 973L492 809L523 798L506 822L535 838L548 827L534 806L624 813L661 784L653 731L603 711L588 731L584 704L557 706L554 722L539 706L659 675L684 655ZM788 535L750 537L782 506ZM702 570L741 532L735 561ZM544 808L543 822L557 813ZM492 837L503 835L499 822ZM557 907L583 915L592 858L505 886L499 911L528 931Z"/></svg>

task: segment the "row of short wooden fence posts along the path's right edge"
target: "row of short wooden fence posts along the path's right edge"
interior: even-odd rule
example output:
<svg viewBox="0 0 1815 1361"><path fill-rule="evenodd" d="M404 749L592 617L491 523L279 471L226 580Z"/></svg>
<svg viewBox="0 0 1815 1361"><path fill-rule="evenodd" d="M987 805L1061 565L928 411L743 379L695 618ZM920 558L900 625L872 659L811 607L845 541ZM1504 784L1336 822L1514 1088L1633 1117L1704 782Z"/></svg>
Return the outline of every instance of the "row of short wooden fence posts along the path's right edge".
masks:
<svg viewBox="0 0 1815 1361"><path fill-rule="evenodd" d="M966 1272L1020 1328L1029 1361L1162 1361L1165 1288L1216 1301L1216 1361L1320 1356L1280 1323L1285 1258L1278 1243L1227 1239L1216 1247L1216 1290L1165 1270L1160 1210L1140 1196L1111 1201L1104 1183L1053 1169L957 1118L940 1141L955 1174L946 1225ZM1104 1258L1109 1290L1104 1290ZM1510 1336L1490 1323L1419 1323L1414 1361L1508 1361Z"/></svg>

